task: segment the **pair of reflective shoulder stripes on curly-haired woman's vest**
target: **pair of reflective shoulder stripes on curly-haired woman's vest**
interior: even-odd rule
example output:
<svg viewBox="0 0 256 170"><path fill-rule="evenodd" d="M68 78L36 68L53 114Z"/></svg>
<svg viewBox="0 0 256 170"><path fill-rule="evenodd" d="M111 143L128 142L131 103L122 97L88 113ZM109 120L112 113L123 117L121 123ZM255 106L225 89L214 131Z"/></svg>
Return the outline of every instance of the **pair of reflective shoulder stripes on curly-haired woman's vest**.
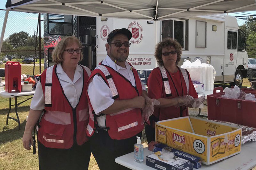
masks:
<svg viewBox="0 0 256 170"><path fill-rule="evenodd" d="M163 77L165 95L170 96L172 94L172 92L171 92L169 80L167 78L166 70L165 70L164 66L159 66L159 69L160 69L162 77ZM189 89L188 73L183 68L180 68L180 71L181 71L181 74L182 74L182 76L185 80L185 83L186 83L186 86L187 86L187 92L188 92L188 89Z"/></svg>

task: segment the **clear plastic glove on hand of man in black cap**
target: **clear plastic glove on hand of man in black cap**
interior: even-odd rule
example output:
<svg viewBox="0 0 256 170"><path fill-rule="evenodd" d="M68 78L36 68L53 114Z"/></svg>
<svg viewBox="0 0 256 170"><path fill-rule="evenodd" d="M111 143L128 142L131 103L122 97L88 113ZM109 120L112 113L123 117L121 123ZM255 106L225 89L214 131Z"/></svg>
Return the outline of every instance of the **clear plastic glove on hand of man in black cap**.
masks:
<svg viewBox="0 0 256 170"><path fill-rule="evenodd" d="M140 124L142 125L145 121L147 122L149 119L149 116L151 116L155 110L154 106L160 105L160 102L156 99L150 99L146 98L145 99L146 104L145 107L142 110L142 120Z"/></svg>

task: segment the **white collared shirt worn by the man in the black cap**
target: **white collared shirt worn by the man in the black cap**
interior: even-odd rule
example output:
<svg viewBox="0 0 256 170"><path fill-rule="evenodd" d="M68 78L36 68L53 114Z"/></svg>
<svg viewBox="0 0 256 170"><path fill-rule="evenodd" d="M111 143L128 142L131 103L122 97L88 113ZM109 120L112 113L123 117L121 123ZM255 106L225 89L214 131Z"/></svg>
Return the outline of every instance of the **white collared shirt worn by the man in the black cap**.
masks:
<svg viewBox="0 0 256 170"><path fill-rule="evenodd" d="M116 70L118 73L122 74L127 80L131 82L133 86L136 86L135 79L133 76L133 72L128 62L125 62L125 67L123 68L117 65L111 58L107 55L107 57L102 61L102 64L111 67ZM146 91L145 85L142 85L142 90ZM110 107L114 103L114 99L112 99L112 92L105 81L99 75L95 75L89 82L87 89L90 102L92 104L92 108L96 115L100 115L101 112L108 107ZM100 127L105 127L105 119L106 116L97 117L97 121Z"/></svg>

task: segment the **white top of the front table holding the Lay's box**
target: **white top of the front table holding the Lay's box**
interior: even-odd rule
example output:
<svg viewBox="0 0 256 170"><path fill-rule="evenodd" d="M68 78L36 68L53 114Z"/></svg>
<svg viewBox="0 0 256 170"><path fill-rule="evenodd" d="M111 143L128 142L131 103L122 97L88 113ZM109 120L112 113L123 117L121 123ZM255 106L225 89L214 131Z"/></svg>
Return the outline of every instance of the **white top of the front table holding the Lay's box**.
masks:
<svg viewBox="0 0 256 170"><path fill-rule="evenodd" d="M121 164L133 170L155 170L146 165L146 156L153 152L144 148L144 161L137 163L134 161L134 152L116 158L116 163ZM242 144L241 153L216 162L209 166L202 164L199 170L247 170L256 166L256 142ZM196 170L195 168L193 168Z"/></svg>

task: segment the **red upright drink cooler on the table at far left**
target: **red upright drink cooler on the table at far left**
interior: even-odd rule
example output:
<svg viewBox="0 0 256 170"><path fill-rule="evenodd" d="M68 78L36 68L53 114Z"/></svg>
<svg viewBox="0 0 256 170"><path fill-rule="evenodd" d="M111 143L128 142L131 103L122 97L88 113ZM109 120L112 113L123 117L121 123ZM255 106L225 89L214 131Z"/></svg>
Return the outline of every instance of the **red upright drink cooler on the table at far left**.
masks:
<svg viewBox="0 0 256 170"><path fill-rule="evenodd" d="M21 64L19 62L7 62L5 64L5 91L21 92Z"/></svg>

